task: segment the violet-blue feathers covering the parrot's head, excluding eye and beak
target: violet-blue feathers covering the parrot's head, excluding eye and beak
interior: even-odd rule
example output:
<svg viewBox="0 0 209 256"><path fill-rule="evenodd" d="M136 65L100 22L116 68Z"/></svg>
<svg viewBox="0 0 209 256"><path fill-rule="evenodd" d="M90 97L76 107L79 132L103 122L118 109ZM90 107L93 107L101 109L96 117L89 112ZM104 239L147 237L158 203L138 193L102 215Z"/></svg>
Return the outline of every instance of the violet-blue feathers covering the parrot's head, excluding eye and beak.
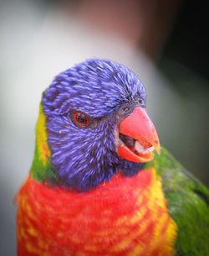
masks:
<svg viewBox="0 0 209 256"><path fill-rule="evenodd" d="M145 88L124 65L98 59L75 65L54 78L42 103L51 164L62 185L86 191L118 170L134 175L141 169L141 164L120 159L115 147L120 121L136 105L145 107ZM75 125L73 111L89 116L87 128Z"/></svg>

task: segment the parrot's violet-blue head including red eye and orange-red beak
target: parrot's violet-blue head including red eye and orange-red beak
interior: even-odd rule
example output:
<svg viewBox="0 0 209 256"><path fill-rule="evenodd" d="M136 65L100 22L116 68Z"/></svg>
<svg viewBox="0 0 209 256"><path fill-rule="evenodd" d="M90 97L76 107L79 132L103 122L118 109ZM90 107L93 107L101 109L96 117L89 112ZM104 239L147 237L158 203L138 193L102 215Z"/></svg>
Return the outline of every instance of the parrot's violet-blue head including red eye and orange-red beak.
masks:
<svg viewBox="0 0 209 256"><path fill-rule="evenodd" d="M154 150L160 153L145 97L135 74L110 60L86 60L54 78L41 106L48 165L59 185L88 191L118 171L135 175L154 158ZM37 137L41 133L43 127Z"/></svg>

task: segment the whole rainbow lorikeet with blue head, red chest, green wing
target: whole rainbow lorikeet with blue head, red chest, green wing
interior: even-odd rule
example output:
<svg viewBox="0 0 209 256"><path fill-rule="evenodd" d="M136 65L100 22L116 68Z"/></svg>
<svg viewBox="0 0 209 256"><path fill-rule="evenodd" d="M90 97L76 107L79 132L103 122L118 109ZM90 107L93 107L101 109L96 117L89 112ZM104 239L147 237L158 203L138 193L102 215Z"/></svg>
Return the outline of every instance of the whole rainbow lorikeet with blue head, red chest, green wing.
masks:
<svg viewBox="0 0 209 256"><path fill-rule="evenodd" d="M110 60L54 78L16 197L18 256L209 254L209 192L161 149L145 97Z"/></svg>

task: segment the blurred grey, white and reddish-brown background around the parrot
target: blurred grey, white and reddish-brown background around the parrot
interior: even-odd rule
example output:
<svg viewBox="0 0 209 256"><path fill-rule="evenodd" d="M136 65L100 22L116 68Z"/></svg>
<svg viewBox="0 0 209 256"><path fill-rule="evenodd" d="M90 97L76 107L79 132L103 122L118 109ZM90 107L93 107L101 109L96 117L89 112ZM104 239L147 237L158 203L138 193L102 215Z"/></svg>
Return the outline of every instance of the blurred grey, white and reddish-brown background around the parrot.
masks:
<svg viewBox="0 0 209 256"><path fill-rule="evenodd" d="M209 184L207 16L189 0L1 2L1 255L15 255L13 197L33 160L42 91L86 58L135 71L161 144Z"/></svg>

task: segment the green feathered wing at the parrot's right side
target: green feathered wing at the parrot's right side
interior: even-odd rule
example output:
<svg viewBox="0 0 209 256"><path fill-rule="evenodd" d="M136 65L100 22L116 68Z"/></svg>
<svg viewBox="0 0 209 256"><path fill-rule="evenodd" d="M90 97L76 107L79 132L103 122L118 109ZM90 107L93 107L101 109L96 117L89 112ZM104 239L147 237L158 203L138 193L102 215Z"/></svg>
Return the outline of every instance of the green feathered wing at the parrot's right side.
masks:
<svg viewBox="0 0 209 256"><path fill-rule="evenodd" d="M176 222L176 255L209 255L209 190L166 150L146 165L161 176L169 212Z"/></svg>

